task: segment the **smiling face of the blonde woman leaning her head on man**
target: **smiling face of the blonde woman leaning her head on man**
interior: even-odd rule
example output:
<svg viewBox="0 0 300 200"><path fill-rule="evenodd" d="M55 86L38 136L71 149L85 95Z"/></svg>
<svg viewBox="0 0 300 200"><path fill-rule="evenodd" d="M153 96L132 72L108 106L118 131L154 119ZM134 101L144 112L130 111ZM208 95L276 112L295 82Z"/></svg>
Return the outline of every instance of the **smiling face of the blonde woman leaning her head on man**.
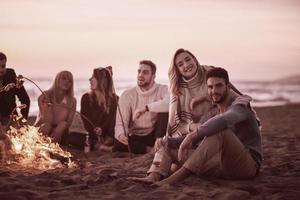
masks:
<svg viewBox="0 0 300 200"><path fill-rule="evenodd" d="M179 73L187 80L197 73L197 63L187 52L178 54L175 58L175 64Z"/></svg>

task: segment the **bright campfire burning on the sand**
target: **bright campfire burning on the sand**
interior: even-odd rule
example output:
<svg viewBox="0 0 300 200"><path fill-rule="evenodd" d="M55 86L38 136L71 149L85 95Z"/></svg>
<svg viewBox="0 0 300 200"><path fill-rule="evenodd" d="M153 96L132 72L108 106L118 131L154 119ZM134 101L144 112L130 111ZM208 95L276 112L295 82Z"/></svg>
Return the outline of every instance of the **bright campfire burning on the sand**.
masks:
<svg viewBox="0 0 300 200"><path fill-rule="evenodd" d="M38 170L76 167L70 152L53 143L38 127L28 125L24 119L21 122L18 128L11 126L7 131L6 147L2 148L4 164Z"/></svg>

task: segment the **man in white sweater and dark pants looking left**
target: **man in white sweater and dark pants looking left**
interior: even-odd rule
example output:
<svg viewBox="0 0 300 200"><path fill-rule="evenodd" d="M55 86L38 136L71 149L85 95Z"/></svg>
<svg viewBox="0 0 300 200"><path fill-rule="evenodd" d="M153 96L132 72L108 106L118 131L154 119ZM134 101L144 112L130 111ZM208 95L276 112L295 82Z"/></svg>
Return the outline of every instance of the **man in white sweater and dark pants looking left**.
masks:
<svg viewBox="0 0 300 200"><path fill-rule="evenodd" d="M156 138L165 135L169 93L167 85L155 83L155 73L152 61L140 61L137 86L120 96L114 151L146 153Z"/></svg>

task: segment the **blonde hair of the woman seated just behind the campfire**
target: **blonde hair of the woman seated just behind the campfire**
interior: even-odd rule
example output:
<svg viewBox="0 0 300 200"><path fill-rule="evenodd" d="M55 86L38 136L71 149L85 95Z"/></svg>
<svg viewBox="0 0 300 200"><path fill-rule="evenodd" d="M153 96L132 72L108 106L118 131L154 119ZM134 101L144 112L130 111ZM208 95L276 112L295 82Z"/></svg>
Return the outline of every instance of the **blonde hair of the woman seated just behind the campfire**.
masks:
<svg viewBox="0 0 300 200"><path fill-rule="evenodd" d="M59 90L59 82L62 78L67 78L71 82L71 86L65 94L67 104L69 105L69 103L71 103L74 98L74 80L73 80L73 75L71 72L69 72L69 71L58 72L55 76L55 79L53 80L51 88L49 90L47 90L46 92L49 95L49 98L50 98L49 100L51 101L51 103L57 103L57 99L56 99L57 92Z"/></svg>

